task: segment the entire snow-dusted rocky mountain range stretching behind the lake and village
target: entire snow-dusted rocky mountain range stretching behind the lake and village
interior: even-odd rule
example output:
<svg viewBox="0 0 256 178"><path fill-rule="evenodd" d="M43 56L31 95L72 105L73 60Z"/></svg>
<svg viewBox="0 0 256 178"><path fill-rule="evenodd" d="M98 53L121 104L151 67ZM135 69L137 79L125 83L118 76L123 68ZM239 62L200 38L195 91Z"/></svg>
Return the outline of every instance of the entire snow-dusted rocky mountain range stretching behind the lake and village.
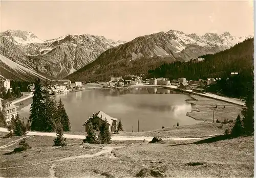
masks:
<svg viewBox="0 0 256 178"><path fill-rule="evenodd" d="M0 77L108 80L109 75L147 73L162 63L217 53L249 37L170 30L129 42L89 34L41 40L31 32L8 30L0 33Z"/></svg>

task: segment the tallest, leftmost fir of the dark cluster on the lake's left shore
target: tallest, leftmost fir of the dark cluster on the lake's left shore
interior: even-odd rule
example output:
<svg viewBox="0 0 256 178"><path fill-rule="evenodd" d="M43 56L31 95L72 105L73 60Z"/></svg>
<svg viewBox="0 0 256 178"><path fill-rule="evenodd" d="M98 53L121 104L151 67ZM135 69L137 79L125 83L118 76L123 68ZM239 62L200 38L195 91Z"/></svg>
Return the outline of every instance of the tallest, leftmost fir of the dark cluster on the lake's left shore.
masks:
<svg viewBox="0 0 256 178"><path fill-rule="evenodd" d="M35 91L33 92L33 103L30 108L29 120L31 131L42 131L42 113L44 113L44 97L41 89L40 79L35 81Z"/></svg>

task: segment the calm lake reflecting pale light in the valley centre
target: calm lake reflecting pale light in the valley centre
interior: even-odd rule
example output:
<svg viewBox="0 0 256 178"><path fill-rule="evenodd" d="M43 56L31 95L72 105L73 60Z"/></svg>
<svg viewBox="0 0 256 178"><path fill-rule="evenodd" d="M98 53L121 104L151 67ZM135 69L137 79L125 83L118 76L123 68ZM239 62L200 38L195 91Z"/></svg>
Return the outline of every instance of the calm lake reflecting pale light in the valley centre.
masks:
<svg viewBox="0 0 256 178"><path fill-rule="evenodd" d="M72 131L84 131L84 121L100 110L121 119L125 131L137 132L138 119L140 132L201 122L186 116L193 109L185 102L189 95L163 88L86 89L55 98L63 101ZM20 115L28 117L29 109L24 107Z"/></svg>

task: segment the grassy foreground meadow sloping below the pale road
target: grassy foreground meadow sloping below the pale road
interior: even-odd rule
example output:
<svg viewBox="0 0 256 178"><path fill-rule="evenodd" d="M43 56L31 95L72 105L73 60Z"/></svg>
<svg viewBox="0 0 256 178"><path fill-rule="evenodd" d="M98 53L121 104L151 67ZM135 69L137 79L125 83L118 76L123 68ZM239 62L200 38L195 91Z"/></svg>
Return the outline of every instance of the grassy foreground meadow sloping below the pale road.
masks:
<svg viewBox="0 0 256 178"><path fill-rule="evenodd" d="M0 144L7 144L17 138L19 137L1 139ZM143 167L151 167L152 164L167 166L166 174L169 177L248 177L253 174L253 137L240 137L208 144L190 144L195 142L193 140L165 141L162 144L148 144L140 141L114 142L108 146L124 146L113 151L115 158L98 156L42 163L70 156L94 154L100 150L101 146L88 144L88 147L82 148L77 146L81 140L72 139L68 141L69 146L58 148L52 147L53 139L40 136L27 138L32 149L19 154L3 155L17 147L17 143L0 149L0 168L26 166L1 170L1 175L46 177L50 176L49 170L54 165L57 177L104 177L100 175L103 172L108 172L115 177L134 177ZM162 163L151 163L151 161L162 161ZM187 165L190 162L201 165ZM42 164L32 165L35 163Z"/></svg>

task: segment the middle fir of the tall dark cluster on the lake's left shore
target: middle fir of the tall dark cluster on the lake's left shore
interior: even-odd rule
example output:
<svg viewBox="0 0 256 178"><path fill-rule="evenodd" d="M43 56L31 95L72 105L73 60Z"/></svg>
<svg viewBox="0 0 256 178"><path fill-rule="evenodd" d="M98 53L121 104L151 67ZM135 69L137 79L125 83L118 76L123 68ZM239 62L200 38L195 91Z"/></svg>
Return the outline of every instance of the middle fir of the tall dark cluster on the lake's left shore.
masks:
<svg viewBox="0 0 256 178"><path fill-rule="evenodd" d="M55 117L56 117L56 104L55 101L51 98L48 91L46 91L44 96L44 112L41 114L41 124L42 131L44 132L52 132L55 131Z"/></svg>

